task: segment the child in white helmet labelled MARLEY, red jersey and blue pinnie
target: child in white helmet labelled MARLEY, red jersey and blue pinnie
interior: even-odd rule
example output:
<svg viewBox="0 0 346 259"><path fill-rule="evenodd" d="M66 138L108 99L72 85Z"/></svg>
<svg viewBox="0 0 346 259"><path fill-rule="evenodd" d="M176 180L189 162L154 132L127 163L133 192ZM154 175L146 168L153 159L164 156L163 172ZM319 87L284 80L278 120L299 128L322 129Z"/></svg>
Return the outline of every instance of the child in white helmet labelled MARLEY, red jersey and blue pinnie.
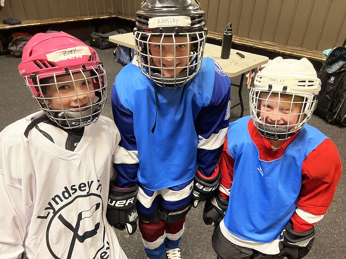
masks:
<svg viewBox="0 0 346 259"><path fill-rule="evenodd" d="M220 259L300 259L341 176L336 146L306 124L320 80L306 58L277 57L250 88L251 116L229 124L219 193L203 220Z"/></svg>

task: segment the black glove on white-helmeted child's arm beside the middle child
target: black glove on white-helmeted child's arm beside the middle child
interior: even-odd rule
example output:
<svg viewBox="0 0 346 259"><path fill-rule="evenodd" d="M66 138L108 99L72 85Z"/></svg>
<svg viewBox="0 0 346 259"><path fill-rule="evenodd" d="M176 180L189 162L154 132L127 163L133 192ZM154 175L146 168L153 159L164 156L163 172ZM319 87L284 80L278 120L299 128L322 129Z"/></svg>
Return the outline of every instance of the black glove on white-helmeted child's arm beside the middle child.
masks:
<svg viewBox="0 0 346 259"><path fill-rule="evenodd" d="M220 193L215 194L206 202L203 210L203 221L207 225L220 223L224 218L226 210L228 207L228 201L221 197Z"/></svg>

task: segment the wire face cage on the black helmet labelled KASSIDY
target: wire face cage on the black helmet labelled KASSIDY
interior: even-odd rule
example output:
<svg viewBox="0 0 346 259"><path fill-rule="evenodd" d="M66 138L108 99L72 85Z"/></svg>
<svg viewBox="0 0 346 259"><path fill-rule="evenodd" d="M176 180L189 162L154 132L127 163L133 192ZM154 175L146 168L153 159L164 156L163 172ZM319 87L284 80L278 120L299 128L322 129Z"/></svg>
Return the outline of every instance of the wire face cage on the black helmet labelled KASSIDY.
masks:
<svg viewBox="0 0 346 259"><path fill-rule="evenodd" d="M158 86L175 89L201 69L207 30L178 36L136 29L134 33L139 67Z"/></svg>

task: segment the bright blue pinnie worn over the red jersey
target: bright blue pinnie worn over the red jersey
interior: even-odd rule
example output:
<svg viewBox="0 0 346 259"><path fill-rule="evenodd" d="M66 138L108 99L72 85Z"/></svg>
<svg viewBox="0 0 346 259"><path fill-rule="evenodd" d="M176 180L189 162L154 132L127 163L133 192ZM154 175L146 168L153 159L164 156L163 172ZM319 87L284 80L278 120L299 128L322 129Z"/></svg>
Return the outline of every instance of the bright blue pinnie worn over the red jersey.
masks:
<svg viewBox="0 0 346 259"><path fill-rule="evenodd" d="M281 157L264 161L249 135L249 119L229 124L227 150L235 164L224 224L242 240L270 243L296 209L303 161L327 137L306 124Z"/></svg>

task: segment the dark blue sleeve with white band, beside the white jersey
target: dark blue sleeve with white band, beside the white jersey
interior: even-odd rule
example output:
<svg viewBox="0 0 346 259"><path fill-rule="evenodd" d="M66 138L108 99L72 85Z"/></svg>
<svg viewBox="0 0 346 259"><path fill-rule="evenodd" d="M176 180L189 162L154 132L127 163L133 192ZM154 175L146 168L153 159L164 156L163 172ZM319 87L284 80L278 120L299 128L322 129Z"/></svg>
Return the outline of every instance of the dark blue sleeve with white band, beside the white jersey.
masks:
<svg viewBox="0 0 346 259"><path fill-rule="evenodd" d="M131 188L138 182L137 172L139 168L133 113L122 105L116 89L116 82L113 84L111 102L113 119L121 135L119 144L121 151L118 152L118 155L122 156L121 161L125 161L114 164L117 170L117 178L112 181L112 184L118 188ZM137 160L134 159L133 154L137 154Z"/></svg>

